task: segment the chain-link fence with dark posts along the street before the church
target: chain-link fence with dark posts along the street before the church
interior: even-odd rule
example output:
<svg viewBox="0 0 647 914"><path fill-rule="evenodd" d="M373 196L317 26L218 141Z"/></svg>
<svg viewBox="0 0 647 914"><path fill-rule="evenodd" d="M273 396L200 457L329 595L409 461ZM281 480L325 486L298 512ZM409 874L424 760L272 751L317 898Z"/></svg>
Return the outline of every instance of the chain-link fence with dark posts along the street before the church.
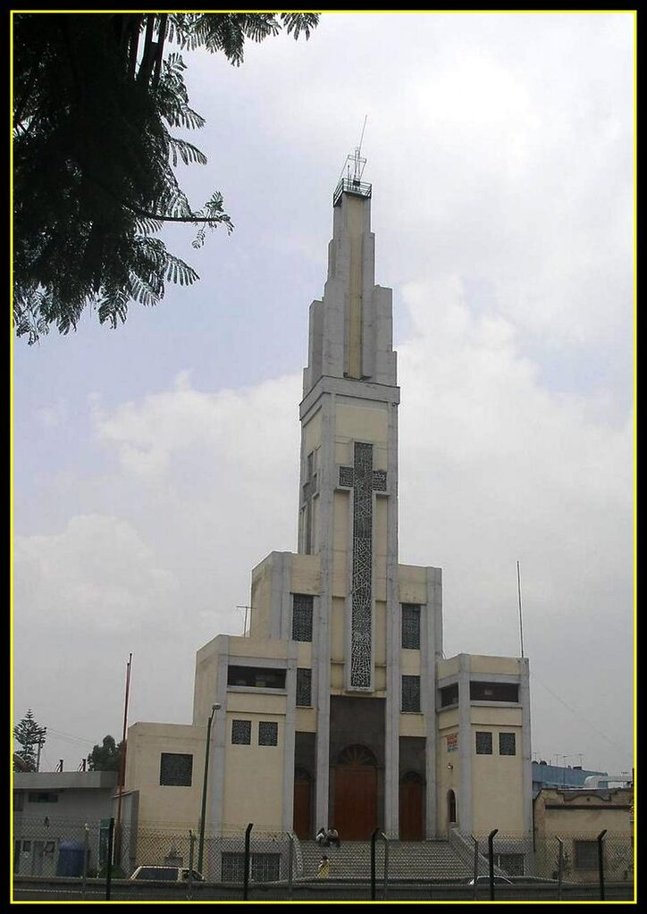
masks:
<svg viewBox="0 0 647 914"><path fill-rule="evenodd" d="M115 900L632 898L633 845L625 834L523 840L493 829L481 835L454 830L438 841L372 837L346 842L342 836L340 846L322 847L251 825L201 834L170 824L135 832L106 819L16 822L16 898L46 891L60 899L105 898L107 891ZM139 866L164 870L151 869L150 882L132 880ZM167 879L176 885L164 884Z"/></svg>

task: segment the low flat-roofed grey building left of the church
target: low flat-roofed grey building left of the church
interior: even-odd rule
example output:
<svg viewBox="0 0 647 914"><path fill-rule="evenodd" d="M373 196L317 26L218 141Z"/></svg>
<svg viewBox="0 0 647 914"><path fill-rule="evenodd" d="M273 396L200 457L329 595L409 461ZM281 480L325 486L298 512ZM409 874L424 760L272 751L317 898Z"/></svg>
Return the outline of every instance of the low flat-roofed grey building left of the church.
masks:
<svg viewBox="0 0 647 914"><path fill-rule="evenodd" d="M56 875L61 845L82 848L85 824L89 865L101 866L116 785L116 771L14 772L14 872Z"/></svg>

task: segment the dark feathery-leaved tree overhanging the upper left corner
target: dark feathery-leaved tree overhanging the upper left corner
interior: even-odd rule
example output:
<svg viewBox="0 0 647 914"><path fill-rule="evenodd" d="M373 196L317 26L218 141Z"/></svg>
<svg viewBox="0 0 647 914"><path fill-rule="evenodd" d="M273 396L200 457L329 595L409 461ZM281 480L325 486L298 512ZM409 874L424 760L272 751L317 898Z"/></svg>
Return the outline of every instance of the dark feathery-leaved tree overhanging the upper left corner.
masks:
<svg viewBox="0 0 647 914"><path fill-rule="evenodd" d="M223 53L286 31L310 36L314 13L16 13L14 37L14 321L34 343L68 333L91 305L116 326L133 302L196 271L154 238L195 223L194 247L231 219L219 192L193 209L175 166L207 163L172 131L204 119L189 107L182 49ZM171 49L174 48L174 49Z"/></svg>

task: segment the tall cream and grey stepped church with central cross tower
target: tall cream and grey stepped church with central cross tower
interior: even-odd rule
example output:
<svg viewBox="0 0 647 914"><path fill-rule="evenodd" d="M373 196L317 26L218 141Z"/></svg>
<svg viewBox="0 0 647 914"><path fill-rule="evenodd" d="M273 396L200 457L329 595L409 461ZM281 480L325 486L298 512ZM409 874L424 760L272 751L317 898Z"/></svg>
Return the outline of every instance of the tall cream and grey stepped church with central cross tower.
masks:
<svg viewBox="0 0 647 914"><path fill-rule="evenodd" d="M247 636L197 652L193 723L129 729L140 830L196 828L217 703L209 834L532 835L528 661L444 659L441 571L398 563L399 388L370 206L370 185L340 182L310 309L298 552L253 570Z"/></svg>

